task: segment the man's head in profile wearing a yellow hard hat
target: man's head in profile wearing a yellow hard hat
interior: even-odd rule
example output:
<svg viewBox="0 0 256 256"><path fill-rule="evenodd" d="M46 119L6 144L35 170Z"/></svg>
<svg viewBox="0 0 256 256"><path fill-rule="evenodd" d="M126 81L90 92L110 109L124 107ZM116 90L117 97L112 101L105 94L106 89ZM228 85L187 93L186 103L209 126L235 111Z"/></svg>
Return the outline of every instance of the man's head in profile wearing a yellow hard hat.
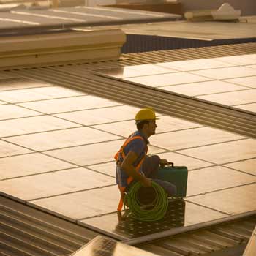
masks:
<svg viewBox="0 0 256 256"><path fill-rule="evenodd" d="M151 108L143 108L136 116L136 126L138 130L141 130L147 137L154 135L156 132L156 114Z"/></svg>

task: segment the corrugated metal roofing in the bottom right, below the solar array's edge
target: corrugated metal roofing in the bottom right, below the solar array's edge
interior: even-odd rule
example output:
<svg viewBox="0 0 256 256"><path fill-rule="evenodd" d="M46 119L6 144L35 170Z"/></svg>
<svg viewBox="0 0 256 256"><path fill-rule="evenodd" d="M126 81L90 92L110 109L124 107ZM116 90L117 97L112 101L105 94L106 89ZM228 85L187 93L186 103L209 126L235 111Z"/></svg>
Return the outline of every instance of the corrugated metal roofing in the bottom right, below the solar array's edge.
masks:
<svg viewBox="0 0 256 256"><path fill-rule="evenodd" d="M207 228L137 244L140 249L159 255L236 255L240 256L255 228L256 215L241 217ZM136 240L136 238L134 239ZM138 238L138 241L140 238ZM126 241L136 246L135 241ZM231 254L230 254L231 253Z"/></svg>

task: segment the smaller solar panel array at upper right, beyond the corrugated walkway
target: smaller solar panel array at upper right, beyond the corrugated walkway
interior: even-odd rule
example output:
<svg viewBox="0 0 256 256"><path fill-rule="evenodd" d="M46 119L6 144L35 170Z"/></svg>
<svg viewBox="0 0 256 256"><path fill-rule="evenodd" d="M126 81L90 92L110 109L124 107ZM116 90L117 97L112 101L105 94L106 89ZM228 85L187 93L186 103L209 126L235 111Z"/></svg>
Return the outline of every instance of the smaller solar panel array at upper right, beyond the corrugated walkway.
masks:
<svg viewBox="0 0 256 256"><path fill-rule="evenodd" d="M95 73L256 113L256 54L99 69Z"/></svg>

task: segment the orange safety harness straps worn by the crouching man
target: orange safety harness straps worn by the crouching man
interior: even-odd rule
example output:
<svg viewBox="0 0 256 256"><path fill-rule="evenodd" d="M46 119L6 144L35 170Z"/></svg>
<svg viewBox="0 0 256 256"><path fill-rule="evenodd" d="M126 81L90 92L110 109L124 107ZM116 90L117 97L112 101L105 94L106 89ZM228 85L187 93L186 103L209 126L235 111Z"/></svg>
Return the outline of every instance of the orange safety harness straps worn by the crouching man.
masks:
<svg viewBox="0 0 256 256"><path fill-rule="evenodd" d="M134 136L134 137L131 137L132 135L130 135L127 140L125 140L123 146L121 146L121 148L119 149L119 151L116 153L115 155L115 159L116 159L116 163L117 165L120 165L121 163L118 162L119 161L119 155L121 154L121 157L124 159L124 157L126 157L126 155L124 154L124 147L128 145L128 143L130 143L132 140L136 140L136 139L139 139L139 140L143 140L144 141L144 138L140 135L137 135L137 136ZM140 162L138 163L138 165L135 166L135 170L138 172L140 170L140 166L143 164L145 158L146 158L146 154L148 153L148 146L146 146L146 150L145 150L145 154L143 156L143 158L140 160ZM127 178L127 184L130 184L133 180L133 177L132 176L129 176ZM121 211L121 209L123 208L123 205L124 205L124 191L126 189L126 187L121 187L120 184L118 184L118 189L120 190L120 193L121 193L121 197L120 197L120 200L119 200L119 204L118 204L118 208L117 210L118 211Z"/></svg>

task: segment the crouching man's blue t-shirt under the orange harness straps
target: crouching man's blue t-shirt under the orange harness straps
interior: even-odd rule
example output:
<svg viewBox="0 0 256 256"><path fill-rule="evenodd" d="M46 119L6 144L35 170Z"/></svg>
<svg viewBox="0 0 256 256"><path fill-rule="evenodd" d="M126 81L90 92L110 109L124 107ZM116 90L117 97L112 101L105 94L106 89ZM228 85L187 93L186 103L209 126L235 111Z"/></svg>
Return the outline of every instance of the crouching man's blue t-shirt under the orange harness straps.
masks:
<svg viewBox="0 0 256 256"><path fill-rule="evenodd" d="M141 136L144 140L140 140L140 139L135 139L132 140L131 142L129 142L127 144L127 146L124 147L124 154L127 155L129 153L129 151L135 152L135 154L138 155L138 159L135 160L135 162L133 163L133 166L136 167L139 162L141 161L141 159L143 159L143 157L146 154L146 148L147 148L147 144L148 144L148 140L144 137L143 133L140 131L136 131L135 133L133 133L131 137L135 137L135 136ZM121 156L119 156L119 161L122 162L123 159ZM142 166L140 167L139 172L143 174L143 170L142 170ZM129 176L127 175L127 173L121 169L120 165L116 165L116 184L120 185L121 187L127 187L127 178Z"/></svg>

